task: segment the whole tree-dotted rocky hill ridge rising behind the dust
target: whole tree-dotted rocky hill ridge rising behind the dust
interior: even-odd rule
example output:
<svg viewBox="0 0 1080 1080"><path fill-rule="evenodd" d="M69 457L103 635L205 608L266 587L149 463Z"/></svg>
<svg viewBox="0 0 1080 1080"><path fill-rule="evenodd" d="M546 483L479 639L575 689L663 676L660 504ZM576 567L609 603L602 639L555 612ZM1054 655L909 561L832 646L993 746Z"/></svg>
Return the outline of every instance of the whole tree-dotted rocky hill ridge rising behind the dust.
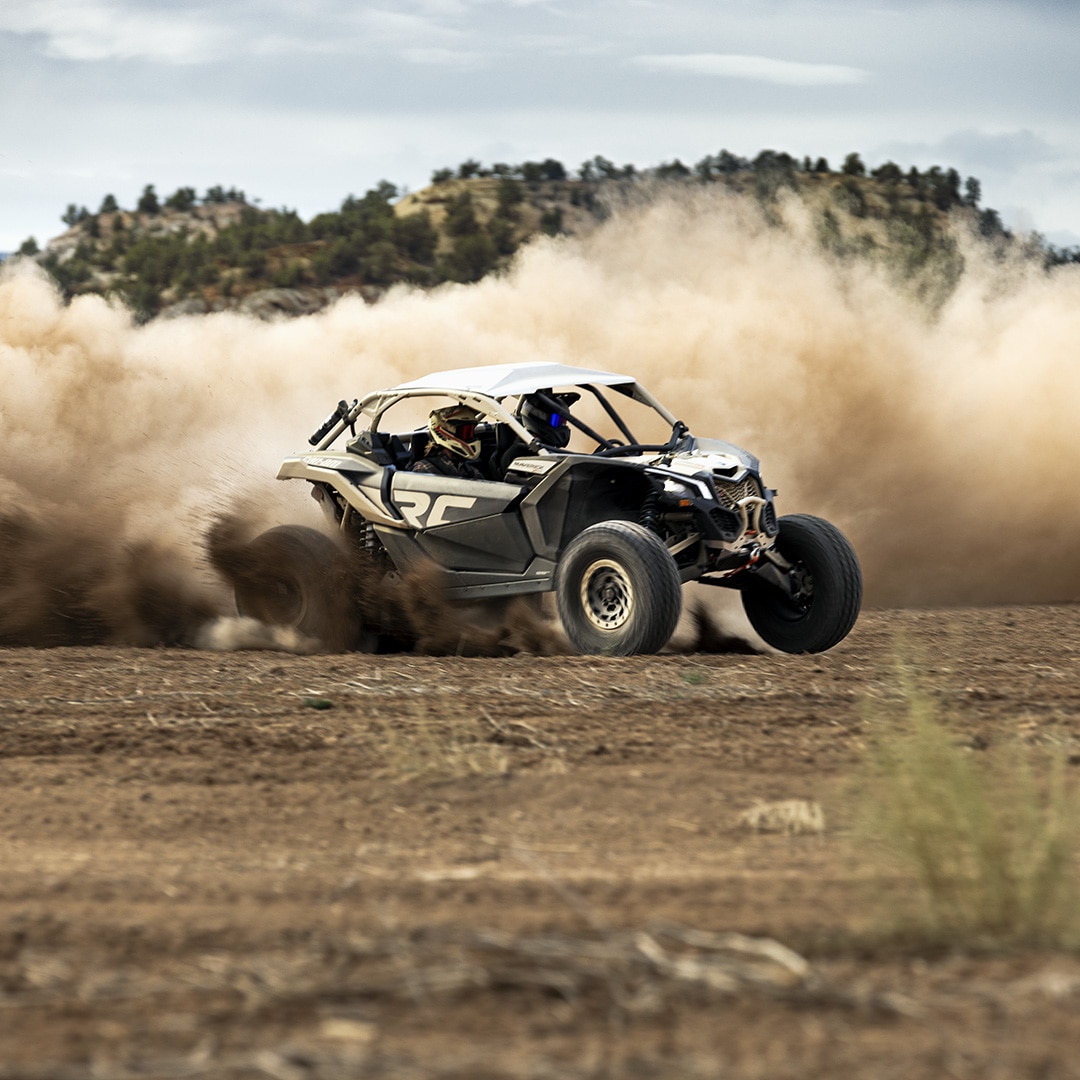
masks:
<svg viewBox="0 0 1080 1080"><path fill-rule="evenodd" d="M881 260L931 301L960 272L957 226L987 243L1016 243L997 213L980 206L978 181L961 185L955 170L905 172L887 162L867 172L849 154L834 171L824 159L766 150L752 161L720 151L692 168L676 160L644 172L595 158L572 178L551 159L490 168L470 161L440 170L422 191L400 197L383 181L307 222L235 189L198 199L181 188L162 204L147 186L135 210L112 195L96 214L69 206L66 232L44 251L28 240L18 254L36 258L68 296L117 295L144 319L225 309L303 314L346 293L374 301L400 282L477 281L535 235L583 235L620 199L672 185L723 185L774 218L781 198L794 194L823 247ZM1024 243L1048 264L1080 257Z"/></svg>

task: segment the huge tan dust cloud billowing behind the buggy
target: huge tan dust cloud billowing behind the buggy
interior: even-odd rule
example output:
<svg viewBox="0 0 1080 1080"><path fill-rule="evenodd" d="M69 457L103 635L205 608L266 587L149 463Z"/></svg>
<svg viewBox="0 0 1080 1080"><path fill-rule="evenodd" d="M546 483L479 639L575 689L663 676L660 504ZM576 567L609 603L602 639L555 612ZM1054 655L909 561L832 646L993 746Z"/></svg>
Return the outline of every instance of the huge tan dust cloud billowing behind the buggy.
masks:
<svg viewBox="0 0 1080 1080"><path fill-rule="evenodd" d="M794 204L783 218L660 198L476 285L269 324L137 326L5 265L0 643L213 639L233 612L207 531L222 514L319 524L306 485L274 475L340 397L511 361L632 374L753 450L782 513L848 534L870 604L1080 597L1080 268L971 245L931 314L822 253Z"/></svg>

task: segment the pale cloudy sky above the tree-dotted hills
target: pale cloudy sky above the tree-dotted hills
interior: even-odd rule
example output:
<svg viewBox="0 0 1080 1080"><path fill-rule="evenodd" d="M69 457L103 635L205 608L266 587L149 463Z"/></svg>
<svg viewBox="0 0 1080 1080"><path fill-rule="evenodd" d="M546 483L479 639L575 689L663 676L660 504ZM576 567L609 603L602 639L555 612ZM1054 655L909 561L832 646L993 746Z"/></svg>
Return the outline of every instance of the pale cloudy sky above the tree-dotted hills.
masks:
<svg viewBox="0 0 1080 1080"><path fill-rule="evenodd" d="M0 0L0 252L69 203L309 219L467 159L955 167L1080 243L1077 0Z"/></svg>

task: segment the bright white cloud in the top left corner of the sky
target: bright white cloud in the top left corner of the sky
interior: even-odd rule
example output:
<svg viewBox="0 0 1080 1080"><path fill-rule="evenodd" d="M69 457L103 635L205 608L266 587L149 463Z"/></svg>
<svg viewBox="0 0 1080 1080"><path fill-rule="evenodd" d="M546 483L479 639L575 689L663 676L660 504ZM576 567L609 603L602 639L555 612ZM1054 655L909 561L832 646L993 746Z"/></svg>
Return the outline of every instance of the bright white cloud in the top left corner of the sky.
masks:
<svg viewBox="0 0 1080 1080"><path fill-rule="evenodd" d="M205 13L136 11L114 0L5 0L0 31L41 35L53 59L153 59L200 64L222 35Z"/></svg>

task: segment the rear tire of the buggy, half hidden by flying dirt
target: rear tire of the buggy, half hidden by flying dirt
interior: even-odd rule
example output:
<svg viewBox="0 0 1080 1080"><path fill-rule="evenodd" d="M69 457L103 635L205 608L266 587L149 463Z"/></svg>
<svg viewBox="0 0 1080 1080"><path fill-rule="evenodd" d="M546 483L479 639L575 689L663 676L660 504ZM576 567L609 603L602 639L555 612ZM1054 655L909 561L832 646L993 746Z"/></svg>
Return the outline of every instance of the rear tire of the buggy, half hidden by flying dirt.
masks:
<svg viewBox="0 0 1080 1080"><path fill-rule="evenodd" d="M241 615L293 626L329 652L357 647L349 561L329 537L303 525L281 525L257 536L244 554L244 570L233 581Z"/></svg>

